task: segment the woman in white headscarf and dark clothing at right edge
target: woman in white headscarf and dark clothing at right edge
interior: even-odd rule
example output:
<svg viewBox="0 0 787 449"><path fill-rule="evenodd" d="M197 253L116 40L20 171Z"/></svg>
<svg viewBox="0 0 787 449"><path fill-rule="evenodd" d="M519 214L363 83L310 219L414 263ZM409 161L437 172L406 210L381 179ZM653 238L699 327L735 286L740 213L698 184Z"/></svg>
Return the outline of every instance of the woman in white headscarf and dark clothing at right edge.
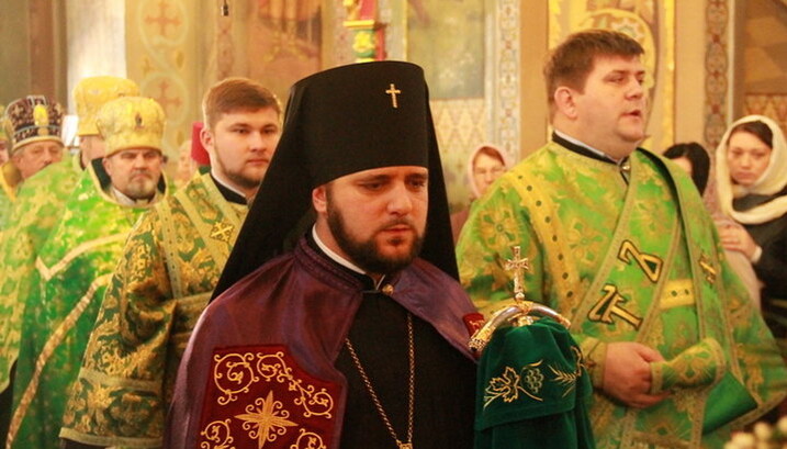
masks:
<svg viewBox="0 0 787 449"><path fill-rule="evenodd" d="M719 207L737 223L719 228L763 282L762 306L777 337L787 334L787 142L763 115L733 123L716 149ZM780 300L779 300L780 299Z"/></svg>

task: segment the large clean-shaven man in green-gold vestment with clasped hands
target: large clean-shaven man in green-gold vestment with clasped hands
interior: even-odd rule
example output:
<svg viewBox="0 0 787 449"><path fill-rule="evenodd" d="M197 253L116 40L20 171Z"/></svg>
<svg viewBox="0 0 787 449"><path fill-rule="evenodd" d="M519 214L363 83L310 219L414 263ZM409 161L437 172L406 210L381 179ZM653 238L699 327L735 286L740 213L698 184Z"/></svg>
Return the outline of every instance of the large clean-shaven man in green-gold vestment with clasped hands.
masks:
<svg viewBox="0 0 787 449"><path fill-rule="evenodd" d="M566 316L582 348L597 447L721 448L785 397L787 370L692 180L638 148L642 53L599 30L555 47L551 142L477 200L459 270L488 313L511 296L505 261L521 246L528 299Z"/></svg>

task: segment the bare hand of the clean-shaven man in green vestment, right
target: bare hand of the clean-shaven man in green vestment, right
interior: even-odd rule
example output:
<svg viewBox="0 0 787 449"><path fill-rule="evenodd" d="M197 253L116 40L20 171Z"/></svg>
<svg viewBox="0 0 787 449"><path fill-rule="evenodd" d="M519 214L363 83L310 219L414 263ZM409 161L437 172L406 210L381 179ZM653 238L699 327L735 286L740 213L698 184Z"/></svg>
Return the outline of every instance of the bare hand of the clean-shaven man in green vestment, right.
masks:
<svg viewBox="0 0 787 449"><path fill-rule="evenodd" d="M648 408L666 399L670 393L649 394L651 367L664 358L657 350L633 341L607 344L604 363L604 392L629 407Z"/></svg>

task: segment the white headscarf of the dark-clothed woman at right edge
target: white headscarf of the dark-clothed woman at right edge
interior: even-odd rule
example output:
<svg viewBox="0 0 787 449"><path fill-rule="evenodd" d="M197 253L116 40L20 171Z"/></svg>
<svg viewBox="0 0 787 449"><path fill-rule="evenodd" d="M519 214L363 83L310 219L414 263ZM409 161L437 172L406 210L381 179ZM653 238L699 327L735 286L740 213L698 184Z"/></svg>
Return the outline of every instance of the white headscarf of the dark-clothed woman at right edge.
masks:
<svg viewBox="0 0 787 449"><path fill-rule="evenodd" d="M741 123L749 122L765 123L771 128L774 138L768 167L752 186L743 187L733 184L730 178L730 168L727 166L727 144L732 128ZM735 211L732 207L734 198L742 198L753 193L773 195L787 186L787 142L779 125L764 115L746 115L731 124L716 148L716 183L721 211L739 223L766 223L784 215L787 212L787 195L777 197L747 211Z"/></svg>

